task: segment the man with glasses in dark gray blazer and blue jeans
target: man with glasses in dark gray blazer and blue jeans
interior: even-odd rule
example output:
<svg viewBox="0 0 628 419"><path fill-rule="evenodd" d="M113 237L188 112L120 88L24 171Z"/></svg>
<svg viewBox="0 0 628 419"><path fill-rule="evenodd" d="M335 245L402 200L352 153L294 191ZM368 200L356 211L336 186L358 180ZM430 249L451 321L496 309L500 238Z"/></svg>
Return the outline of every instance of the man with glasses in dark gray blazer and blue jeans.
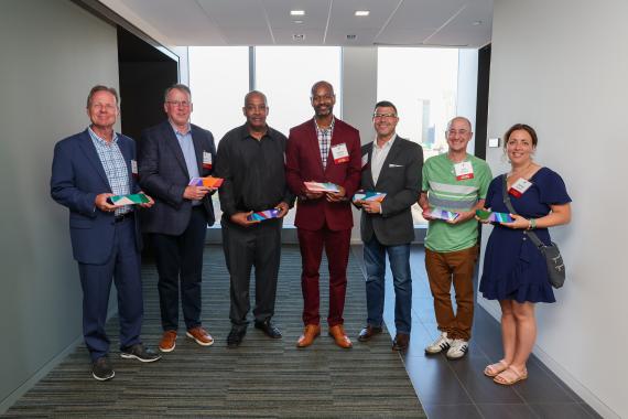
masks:
<svg viewBox="0 0 628 419"><path fill-rule="evenodd" d="M366 342L382 331L386 254L394 284L393 351L408 348L412 325L412 278L410 243L414 238L411 206L421 191L423 149L396 133L397 107L379 101L372 116L376 140L362 146L361 189L385 193L383 201L360 200L360 234L367 271L367 325L358 341Z"/></svg>

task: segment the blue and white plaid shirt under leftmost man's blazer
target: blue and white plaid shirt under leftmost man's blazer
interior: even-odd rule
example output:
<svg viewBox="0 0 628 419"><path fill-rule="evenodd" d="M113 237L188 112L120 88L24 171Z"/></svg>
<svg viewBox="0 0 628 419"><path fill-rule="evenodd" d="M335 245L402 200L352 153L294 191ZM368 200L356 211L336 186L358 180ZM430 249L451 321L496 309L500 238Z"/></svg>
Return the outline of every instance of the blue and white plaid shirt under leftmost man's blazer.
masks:
<svg viewBox="0 0 628 419"><path fill-rule="evenodd" d="M96 147L96 152L98 158L100 158L100 163L102 163L102 169L105 169L105 174L109 181L109 186L111 186L111 192L115 195L128 195L131 193L129 186L129 172L127 170L127 162L118 147L118 135L113 132L113 139L111 142L107 142L96 135L88 128L89 137L91 137L91 142ZM131 205L124 205L116 208L116 216L130 213L132 210Z"/></svg>

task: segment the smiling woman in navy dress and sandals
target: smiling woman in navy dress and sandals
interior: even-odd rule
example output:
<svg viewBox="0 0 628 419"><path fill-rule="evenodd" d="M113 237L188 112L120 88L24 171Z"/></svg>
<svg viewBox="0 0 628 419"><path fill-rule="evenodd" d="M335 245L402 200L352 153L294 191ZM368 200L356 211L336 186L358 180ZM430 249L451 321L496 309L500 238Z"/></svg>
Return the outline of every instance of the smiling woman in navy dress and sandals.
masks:
<svg viewBox="0 0 628 419"><path fill-rule="evenodd" d="M567 224L571 198L561 176L532 160L537 132L524 123L512 126L505 135L509 173L492 180L486 207L510 213L504 203L504 179L510 202L517 211L511 223L498 223L488 239L479 284L484 298L499 300L504 358L488 365L484 374L495 383L512 385L528 378L526 363L537 339L534 303L555 302L548 278L545 259L523 234L533 229L539 239L550 244L548 227Z"/></svg>

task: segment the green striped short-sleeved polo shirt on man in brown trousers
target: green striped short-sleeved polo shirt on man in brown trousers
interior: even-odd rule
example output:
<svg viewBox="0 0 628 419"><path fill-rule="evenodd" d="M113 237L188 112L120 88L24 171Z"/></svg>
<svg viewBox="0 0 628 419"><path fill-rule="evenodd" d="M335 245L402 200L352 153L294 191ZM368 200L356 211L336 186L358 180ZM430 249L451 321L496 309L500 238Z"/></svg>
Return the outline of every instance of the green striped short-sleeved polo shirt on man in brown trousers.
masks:
<svg viewBox="0 0 628 419"><path fill-rule="evenodd" d="M447 153L434 155L423 164L423 192L427 192L430 207L461 212L469 211L484 200L492 179L488 164L467 154L466 161L473 165L474 178L458 181L454 163ZM432 251L457 251L468 249L477 243L477 221L462 224L447 224L435 219L430 222L425 247Z"/></svg>

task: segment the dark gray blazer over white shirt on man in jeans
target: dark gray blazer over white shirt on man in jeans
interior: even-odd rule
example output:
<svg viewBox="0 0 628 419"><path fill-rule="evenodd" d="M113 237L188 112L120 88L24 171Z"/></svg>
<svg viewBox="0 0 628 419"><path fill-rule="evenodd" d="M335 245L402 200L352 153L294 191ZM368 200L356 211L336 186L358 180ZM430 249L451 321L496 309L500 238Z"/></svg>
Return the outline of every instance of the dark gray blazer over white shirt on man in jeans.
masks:
<svg viewBox="0 0 628 419"><path fill-rule="evenodd" d="M418 143L398 136L381 166L377 184L372 182L370 164L372 142L362 146L361 154L362 159L368 155L368 162L361 173L361 189L387 194L381 203L381 214L367 214L362 211L362 241L370 241L375 234L385 246L409 244L414 239L410 207L419 200L421 192L423 149Z"/></svg>

